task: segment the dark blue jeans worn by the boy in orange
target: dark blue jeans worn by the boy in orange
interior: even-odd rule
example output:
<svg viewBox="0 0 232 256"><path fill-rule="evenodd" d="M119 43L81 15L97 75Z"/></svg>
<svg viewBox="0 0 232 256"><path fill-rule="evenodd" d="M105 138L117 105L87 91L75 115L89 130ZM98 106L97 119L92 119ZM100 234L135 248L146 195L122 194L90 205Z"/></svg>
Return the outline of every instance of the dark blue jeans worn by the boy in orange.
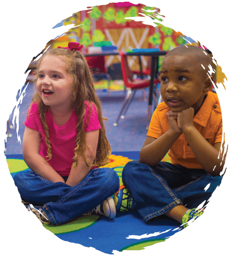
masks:
<svg viewBox="0 0 232 256"><path fill-rule="evenodd" d="M166 162L151 167L139 160L128 162L122 172L123 184L145 223L179 204L191 209L208 202L222 178L204 169L188 169Z"/></svg>

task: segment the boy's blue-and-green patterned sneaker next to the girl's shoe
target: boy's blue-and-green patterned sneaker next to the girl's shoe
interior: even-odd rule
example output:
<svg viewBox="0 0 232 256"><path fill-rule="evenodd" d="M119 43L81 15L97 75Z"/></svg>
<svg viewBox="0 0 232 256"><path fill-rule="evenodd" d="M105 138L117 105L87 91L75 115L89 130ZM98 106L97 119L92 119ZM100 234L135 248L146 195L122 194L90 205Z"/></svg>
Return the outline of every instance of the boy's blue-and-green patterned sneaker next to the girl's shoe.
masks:
<svg viewBox="0 0 232 256"><path fill-rule="evenodd" d="M118 211L136 210L135 200L124 185L121 185L119 191L114 194L114 203Z"/></svg>

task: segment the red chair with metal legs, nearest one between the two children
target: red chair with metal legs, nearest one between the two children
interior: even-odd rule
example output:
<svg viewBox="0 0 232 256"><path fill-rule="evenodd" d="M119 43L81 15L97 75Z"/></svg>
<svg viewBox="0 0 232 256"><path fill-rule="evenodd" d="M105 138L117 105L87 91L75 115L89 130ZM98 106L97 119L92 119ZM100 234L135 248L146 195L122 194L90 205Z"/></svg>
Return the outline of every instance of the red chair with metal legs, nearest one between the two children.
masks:
<svg viewBox="0 0 232 256"><path fill-rule="evenodd" d="M129 107L129 105L131 104L136 91L150 87L150 79L146 78L143 80L141 80L141 79L136 80L132 77L132 71L130 70L128 62L127 62L127 55L122 51L120 51L120 55L121 55L123 81L124 81L125 87L127 88L127 96L123 102L123 105L122 105L121 110L118 114L118 117L114 123L114 126L118 125L118 120L119 120L120 116L121 116L121 119L124 119L127 109ZM158 82L159 82L159 80L157 80L157 79L154 80L155 84ZM158 92L158 89L156 86L154 87L153 94L155 94L154 100L155 100L155 103L157 106L159 92Z"/></svg>

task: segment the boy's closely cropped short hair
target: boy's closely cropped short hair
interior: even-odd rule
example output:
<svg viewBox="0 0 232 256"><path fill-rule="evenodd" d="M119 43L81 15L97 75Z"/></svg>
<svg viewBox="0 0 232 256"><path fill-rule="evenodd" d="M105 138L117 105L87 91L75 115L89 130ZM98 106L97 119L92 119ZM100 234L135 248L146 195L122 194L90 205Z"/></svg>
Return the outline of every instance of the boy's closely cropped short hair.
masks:
<svg viewBox="0 0 232 256"><path fill-rule="evenodd" d="M203 66L202 69L205 69L206 73L209 71L209 66L210 67L212 66L212 58L209 56L209 54L205 50L203 50L198 46L190 46L190 45L177 46L173 50L170 50L167 53L167 55L165 55L164 59L173 55L193 57L195 60L199 62L200 65Z"/></svg>

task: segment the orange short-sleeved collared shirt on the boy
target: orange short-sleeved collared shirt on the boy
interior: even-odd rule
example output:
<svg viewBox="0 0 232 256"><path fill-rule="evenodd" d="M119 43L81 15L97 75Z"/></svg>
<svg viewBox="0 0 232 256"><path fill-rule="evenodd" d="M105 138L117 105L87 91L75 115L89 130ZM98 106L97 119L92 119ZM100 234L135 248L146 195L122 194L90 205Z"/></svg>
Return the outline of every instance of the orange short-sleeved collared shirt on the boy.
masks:
<svg viewBox="0 0 232 256"><path fill-rule="evenodd" d="M170 125L166 114L168 111L169 108L164 102L157 106L152 115L147 136L159 138L169 130ZM217 142L222 142L222 110L216 93L211 91L207 93L204 103L193 118L193 125L212 146ZM182 165L189 169L202 169L183 133L173 143L168 155L172 164ZM205 157L207 157L207 152L205 152Z"/></svg>

